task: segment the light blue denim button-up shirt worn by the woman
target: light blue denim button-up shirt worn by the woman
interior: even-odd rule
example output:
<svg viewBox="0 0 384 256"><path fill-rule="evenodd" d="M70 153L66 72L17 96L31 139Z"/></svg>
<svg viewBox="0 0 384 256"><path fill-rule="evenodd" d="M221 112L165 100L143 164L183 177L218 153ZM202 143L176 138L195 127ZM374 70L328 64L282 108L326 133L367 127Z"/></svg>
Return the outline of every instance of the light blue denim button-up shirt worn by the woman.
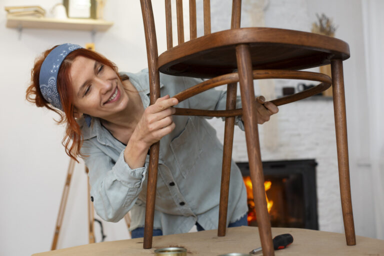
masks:
<svg viewBox="0 0 384 256"><path fill-rule="evenodd" d="M149 105L147 69L125 73ZM201 79L160 74L161 96L170 96ZM226 92L210 89L180 102L177 107L225 109ZM238 106L240 100L237 100ZM188 232L196 221L204 229L218 225L222 144L215 129L202 117L174 115L175 129L160 140L158 178L153 228L163 234ZM240 118L236 124L243 129ZM118 221L130 210L131 227L144 226L146 177L149 156L141 168L131 169L124 161L125 145L92 118L90 127L81 125L81 152L89 168L90 194L97 214ZM231 163L227 224L247 212L246 190L240 170Z"/></svg>

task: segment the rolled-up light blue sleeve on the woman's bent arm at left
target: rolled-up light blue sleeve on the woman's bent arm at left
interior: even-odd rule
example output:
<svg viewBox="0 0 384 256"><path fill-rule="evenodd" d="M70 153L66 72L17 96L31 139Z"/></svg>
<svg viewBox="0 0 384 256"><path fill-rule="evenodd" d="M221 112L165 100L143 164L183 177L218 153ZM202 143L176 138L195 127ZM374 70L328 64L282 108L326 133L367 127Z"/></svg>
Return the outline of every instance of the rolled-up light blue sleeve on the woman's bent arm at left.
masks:
<svg viewBox="0 0 384 256"><path fill-rule="evenodd" d="M96 213L106 221L119 221L137 200L147 166L131 169L124 161L124 151L114 162L90 140L84 141L81 152L87 155L83 159L89 169L90 195Z"/></svg>

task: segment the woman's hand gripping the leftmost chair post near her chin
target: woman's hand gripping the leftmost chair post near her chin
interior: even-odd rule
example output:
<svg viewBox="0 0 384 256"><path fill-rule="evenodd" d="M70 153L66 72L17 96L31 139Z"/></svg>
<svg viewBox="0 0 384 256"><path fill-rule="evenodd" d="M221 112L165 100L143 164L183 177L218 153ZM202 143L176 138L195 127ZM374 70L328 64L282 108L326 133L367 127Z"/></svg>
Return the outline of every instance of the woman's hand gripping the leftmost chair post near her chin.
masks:
<svg viewBox="0 0 384 256"><path fill-rule="evenodd" d="M150 145L169 134L175 127L172 119L175 109L172 106L177 103L178 100L170 98L169 95L158 98L154 104L145 108L131 138L141 146L149 148Z"/></svg>

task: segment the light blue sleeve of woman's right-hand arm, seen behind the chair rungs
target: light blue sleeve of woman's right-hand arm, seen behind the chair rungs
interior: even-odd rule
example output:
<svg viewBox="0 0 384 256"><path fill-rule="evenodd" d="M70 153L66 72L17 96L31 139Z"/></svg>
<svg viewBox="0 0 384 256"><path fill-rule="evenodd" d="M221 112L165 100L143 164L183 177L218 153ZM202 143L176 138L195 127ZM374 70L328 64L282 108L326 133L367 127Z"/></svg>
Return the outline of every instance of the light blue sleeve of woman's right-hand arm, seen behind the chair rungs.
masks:
<svg viewBox="0 0 384 256"><path fill-rule="evenodd" d="M202 82L201 78L183 77L184 89L189 88L197 83ZM208 110L225 110L226 108L226 90L216 90L214 88L208 89L201 93L198 93L190 98L189 107L196 109L208 109ZM241 98L236 98L236 108L241 108ZM205 117L212 118L212 117ZM225 117L222 117L225 120ZM244 124L241 120L241 116L235 116L234 124L236 124L241 130L244 130Z"/></svg>

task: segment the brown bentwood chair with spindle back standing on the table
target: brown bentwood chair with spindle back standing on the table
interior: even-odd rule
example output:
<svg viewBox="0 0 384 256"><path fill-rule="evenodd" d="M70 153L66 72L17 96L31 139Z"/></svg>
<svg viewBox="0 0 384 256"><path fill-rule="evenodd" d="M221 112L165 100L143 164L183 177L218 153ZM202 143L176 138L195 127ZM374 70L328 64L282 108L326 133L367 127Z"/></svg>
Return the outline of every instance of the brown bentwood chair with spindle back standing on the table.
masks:
<svg viewBox="0 0 384 256"><path fill-rule="evenodd" d="M178 45L172 45L170 0L165 0L167 50L157 54L150 0L140 0L148 57L150 102L160 96L159 71L180 76L210 78L174 95L179 101L209 88L227 85L226 110L176 109L180 115L225 116L218 236L225 235L234 116L242 115L250 177L263 255L274 255L270 220L266 208L260 157L253 79L289 78L319 81L310 89L271 100L276 105L317 94L333 84L338 171L346 243L355 244L349 184L348 150L342 61L349 57L346 42L324 35L265 27L240 28L241 0L233 0L231 28L210 33L210 3L203 1L204 35L196 38L196 5L189 0L190 40L184 42L182 0L176 0ZM322 73L297 71L331 64L332 79ZM236 109L236 86L240 84L242 109ZM150 148L144 228L144 248L151 248L159 143Z"/></svg>

